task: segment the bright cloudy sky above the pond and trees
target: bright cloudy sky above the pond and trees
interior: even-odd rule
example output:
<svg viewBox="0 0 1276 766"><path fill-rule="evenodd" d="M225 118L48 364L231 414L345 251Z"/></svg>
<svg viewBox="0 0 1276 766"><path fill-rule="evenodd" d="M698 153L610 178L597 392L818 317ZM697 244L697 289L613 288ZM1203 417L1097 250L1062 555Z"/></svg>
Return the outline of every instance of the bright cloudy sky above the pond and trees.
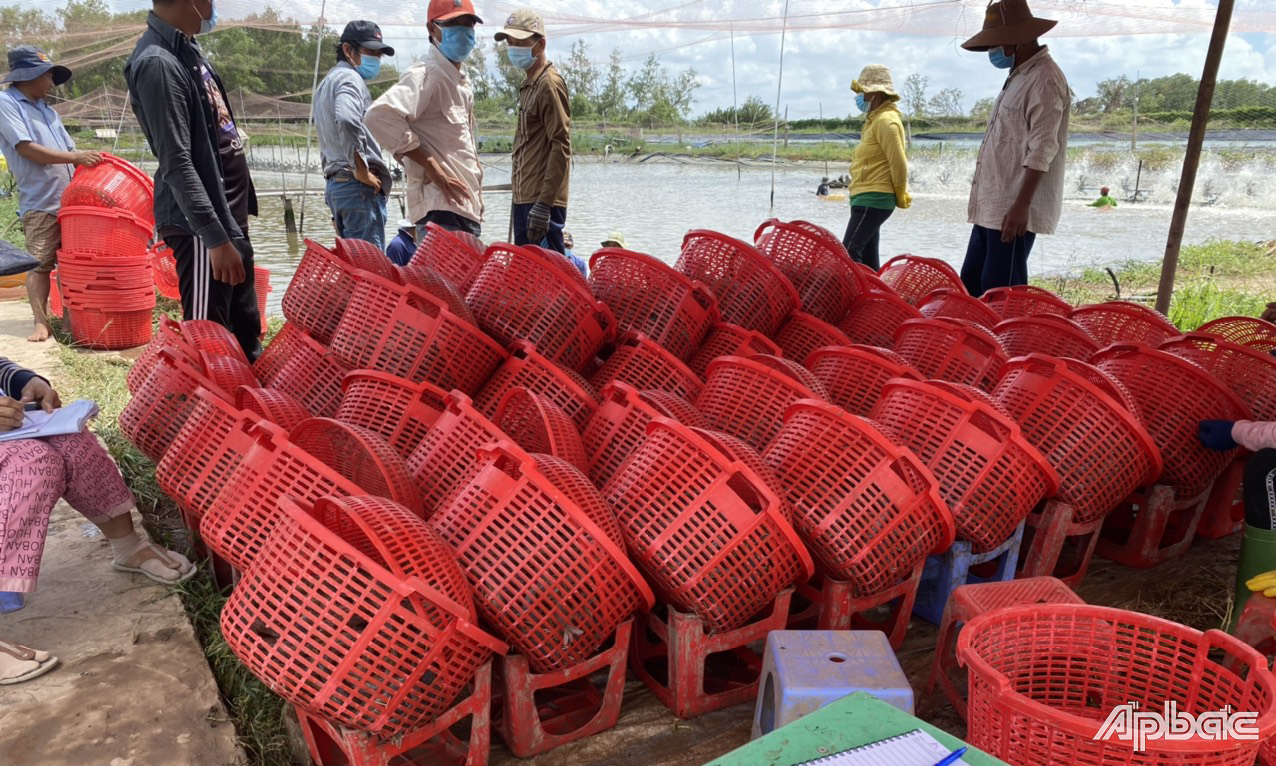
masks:
<svg viewBox="0 0 1276 766"><path fill-rule="evenodd" d="M242 18L264 0L214 0L222 19ZM427 0L383 0L374 22L398 49L401 66L427 45ZM22 0L24 5L32 0ZM149 5L145 0L108 0L116 10ZM43 4L47 5L47 4ZM480 34L490 41L517 3L476 0L484 17ZM547 20L550 57L565 59L583 40L600 63L620 49L637 68L656 52L670 71L694 68L701 87L694 114L731 106L749 94L776 103L790 119L842 116L854 110L850 91L865 64L886 64L896 86L920 73L929 93L962 92L963 106L995 96L1004 73L985 54L966 52L962 40L977 31L983 0L789 0L790 26L780 54L785 0L541 0ZM276 3L283 13L309 22L320 18L339 28L369 13L359 0ZM1095 94L1102 79L1127 74L1154 78L1179 71L1199 77L1216 0L1037 0L1034 11L1059 20L1042 37L1078 97ZM735 94L732 94L732 31ZM921 33L919 33L921 32ZM1276 3L1238 0L1220 78L1252 78L1276 84Z"/></svg>

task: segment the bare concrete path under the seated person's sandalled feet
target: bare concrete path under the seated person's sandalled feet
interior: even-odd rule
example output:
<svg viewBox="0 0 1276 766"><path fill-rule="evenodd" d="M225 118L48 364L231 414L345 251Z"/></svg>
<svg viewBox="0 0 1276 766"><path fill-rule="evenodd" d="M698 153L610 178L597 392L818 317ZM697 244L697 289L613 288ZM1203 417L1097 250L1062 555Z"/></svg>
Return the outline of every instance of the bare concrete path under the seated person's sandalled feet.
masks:
<svg viewBox="0 0 1276 766"><path fill-rule="evenodd" d="M0 355L60 379L54 341L28 343L26 301L0 301ZM59 386L61 387L61 386ZM232 766L235 728L181 601L115 572L110 548L59 503L40 590L0 614L0 636L61 657L54 672L0 687L5 766Z"/></svg>

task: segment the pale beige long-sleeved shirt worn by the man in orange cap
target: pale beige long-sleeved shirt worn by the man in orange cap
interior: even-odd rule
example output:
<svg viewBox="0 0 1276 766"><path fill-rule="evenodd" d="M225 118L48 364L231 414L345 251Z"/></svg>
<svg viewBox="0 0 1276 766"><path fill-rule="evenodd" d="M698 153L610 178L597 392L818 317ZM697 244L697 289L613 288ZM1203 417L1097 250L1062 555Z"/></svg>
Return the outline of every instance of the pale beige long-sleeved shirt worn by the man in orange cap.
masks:
<svg viewBox="0 0 1276 766"><path fill-rule="evenodd" d="M431 45L421 61L367 107L367 130L407 170L407 212L413 221L434 211L449 211L482 222L482 166L473 102L468 78ZM426 180L420 165L403 158L416 147L461 179L470 190L462 204L448 200Z"/></svg>

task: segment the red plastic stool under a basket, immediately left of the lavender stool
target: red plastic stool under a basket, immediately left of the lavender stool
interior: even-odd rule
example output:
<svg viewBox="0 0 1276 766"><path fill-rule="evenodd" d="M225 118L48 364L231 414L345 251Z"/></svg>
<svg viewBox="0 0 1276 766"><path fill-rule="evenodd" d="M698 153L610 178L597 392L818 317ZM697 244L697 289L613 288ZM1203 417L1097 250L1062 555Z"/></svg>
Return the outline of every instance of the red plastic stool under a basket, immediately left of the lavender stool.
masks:
<svg viewBox="0 0 1276 766"><path fill-rule="evenodd" d="M707 633L701 618L672 606L665 608L667 619L652 609L638 618L629 668L680 719L748 702L762 673L749 645L783 629L792 592L780 591L764 615L725 633Z"/></svg>

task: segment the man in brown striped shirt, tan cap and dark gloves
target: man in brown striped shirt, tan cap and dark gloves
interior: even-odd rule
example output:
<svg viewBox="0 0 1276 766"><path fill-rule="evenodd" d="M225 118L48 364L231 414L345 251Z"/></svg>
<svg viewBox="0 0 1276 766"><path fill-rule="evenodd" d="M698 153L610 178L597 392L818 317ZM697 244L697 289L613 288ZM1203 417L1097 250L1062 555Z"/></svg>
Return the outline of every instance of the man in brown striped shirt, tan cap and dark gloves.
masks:
<svg viewBox="0 0 1276 766"><path fill-rule="evenodd" d="M514 129L514 244L564 253L567 195L572 171L572 107L567 83L545 57L545 22L521 8L505 19L496 42L527 73L518 89Z"/></svg>

